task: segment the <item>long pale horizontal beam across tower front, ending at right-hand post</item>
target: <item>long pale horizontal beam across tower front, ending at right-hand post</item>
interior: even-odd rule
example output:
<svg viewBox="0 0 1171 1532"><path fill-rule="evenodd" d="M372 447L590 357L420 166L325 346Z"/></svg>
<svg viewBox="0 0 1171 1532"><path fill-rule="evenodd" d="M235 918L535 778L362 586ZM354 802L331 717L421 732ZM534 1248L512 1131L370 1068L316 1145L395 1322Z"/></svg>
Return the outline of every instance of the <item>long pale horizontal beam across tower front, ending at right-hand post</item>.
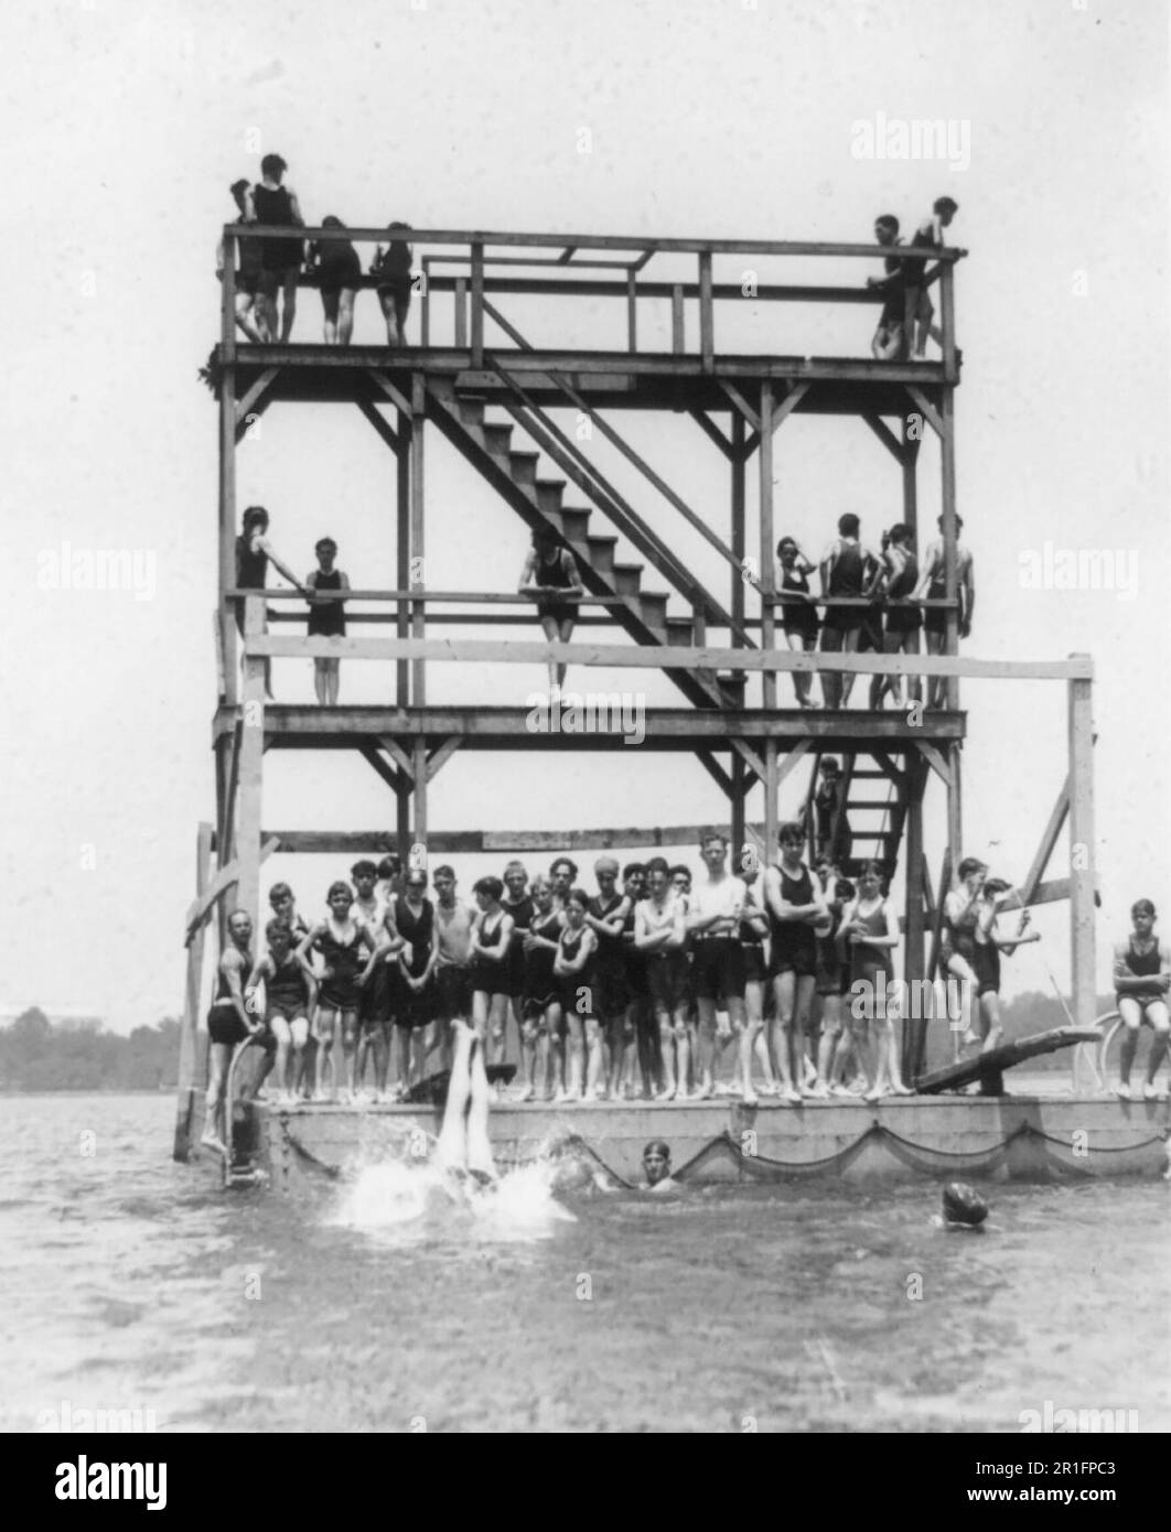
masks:
<svg viewBox="0 0 1171 1532"><path fill-rule="evenodd" d="M535 643L510 639L330 639L257 634L251 656L285 659L441 660L444 663L586 665L618 669L840 671L852 676L970 676L982 680L1093 679L1093 660L975 660L946 654L837 654L820 650L687 648L668 643Z"/></svg>

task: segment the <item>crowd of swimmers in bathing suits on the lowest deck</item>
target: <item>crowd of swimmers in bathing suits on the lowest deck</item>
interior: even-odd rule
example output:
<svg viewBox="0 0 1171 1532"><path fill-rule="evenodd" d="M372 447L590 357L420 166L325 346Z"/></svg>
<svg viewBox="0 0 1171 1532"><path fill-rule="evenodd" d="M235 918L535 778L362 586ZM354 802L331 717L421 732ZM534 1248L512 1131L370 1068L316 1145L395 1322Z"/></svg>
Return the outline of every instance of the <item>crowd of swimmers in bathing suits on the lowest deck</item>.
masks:
<svg viewBox="0 0 1171 1532"><path fill-rule="evenodd" d="M461 1025L483 1045L489 1077L507 1075L500 1088L520 1102L733 1094L795 1106L910 1094L892 982L898 919L881 864L866 863L857 882L840 875L832 846L809 864L799 823L782 826L768 866L745 849L731 872L719 832L699 850L699 875L662 856L624 867L599 856L593 893L570 856L532 879L512 861L475 881L471 904L451 866L403 872L397 856L363 859L330 885L314 922L276 884L262 951L245 912L228 921L208 1014L208 1141L221 1137L239 1043L264 1046L261 1079L277 1102L389 1102L451 1065ZM1016 892L984 863L959 864L941 964L967 1048L1002 1040L1001 958L1038 939L1025 910L1010 931L999 927L1013 905ZM1156 1033L1148 1094L1171 1030L1171 951L1153 925L1140 901L1116 954L1123 1095L1139 1026Z"/></svg>

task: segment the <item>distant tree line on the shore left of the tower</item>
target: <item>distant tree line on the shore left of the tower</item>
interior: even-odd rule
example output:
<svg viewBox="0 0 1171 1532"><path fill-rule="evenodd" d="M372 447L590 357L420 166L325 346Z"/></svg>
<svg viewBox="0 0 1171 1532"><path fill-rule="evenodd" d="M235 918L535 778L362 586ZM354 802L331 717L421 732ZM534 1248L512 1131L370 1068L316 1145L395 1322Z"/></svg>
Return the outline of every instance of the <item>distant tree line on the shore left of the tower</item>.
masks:
<svg viewBox="0 0 1171 1532"><path fill-rule="evenodd" d="M0 1030L0 1091L158 1091L178 1068L173 1016L121 1037L100 1022L54 1025L32 1005Z"/></svg>

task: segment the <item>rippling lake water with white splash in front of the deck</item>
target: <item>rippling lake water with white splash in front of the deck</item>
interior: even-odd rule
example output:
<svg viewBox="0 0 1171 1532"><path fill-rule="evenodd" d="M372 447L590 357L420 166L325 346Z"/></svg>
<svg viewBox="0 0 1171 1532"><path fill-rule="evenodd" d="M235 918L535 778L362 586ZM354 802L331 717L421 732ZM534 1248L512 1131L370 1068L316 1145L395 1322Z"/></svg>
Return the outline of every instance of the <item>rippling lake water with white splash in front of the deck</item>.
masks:
<svg viewBox="0 0 1171 1532"><path fill-rule="evenodd" d="M520 1172L481 1216L394 1167L224 1193L170 1161L173 1117L0 1106L6 1429L1019 1431L1047 1400L1171 1426L1160 1180L989 1187L981 1233L936 1227L929 1181L553 1198Z"/></svg>

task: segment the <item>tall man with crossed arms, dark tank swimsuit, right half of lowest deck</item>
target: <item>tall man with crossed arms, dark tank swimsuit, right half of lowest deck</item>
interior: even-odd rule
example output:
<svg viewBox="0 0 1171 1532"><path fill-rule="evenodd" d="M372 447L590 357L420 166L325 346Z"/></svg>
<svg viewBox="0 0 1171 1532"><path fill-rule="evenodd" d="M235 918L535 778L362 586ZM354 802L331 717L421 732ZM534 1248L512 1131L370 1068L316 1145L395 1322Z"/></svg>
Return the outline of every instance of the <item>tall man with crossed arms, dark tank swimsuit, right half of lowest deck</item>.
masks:
<svg viewBox="0 0 1171 1532"><path fill-rule="evenodd" d="M805 832L800 824L782 824L779 841L780 859L765 869L765 904L772 922L772 1057L780 1072L782 1100L799 1106L805 1028L817 984L817 928L826 930L829 912L817 879L802 861Z"/></svg>

